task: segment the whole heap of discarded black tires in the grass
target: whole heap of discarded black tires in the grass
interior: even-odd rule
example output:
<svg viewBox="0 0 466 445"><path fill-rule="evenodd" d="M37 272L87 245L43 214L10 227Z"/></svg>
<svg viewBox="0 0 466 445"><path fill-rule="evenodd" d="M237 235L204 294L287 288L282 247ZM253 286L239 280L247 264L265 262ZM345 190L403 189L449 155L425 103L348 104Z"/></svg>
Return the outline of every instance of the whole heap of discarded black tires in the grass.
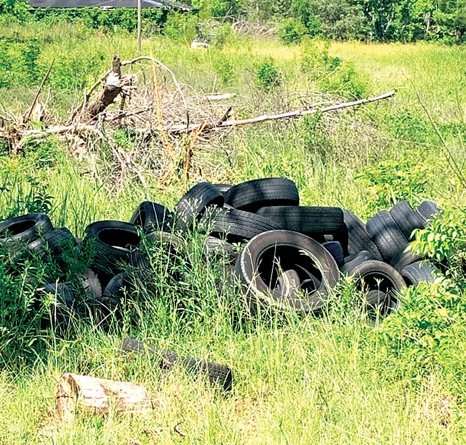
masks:
<svg viewBox="0 0 466 445"><path fill-rule="evenodd" d="M204 255L224 259L251 306L322 310L345 273L355 276L367 308L384 315L397 309L405 285L432 281L435 267L405 249L412 231L425 228L437 213L433 202L412 209L401 201L363 224L338 207L300 206L296 185L286 178L234 186L201 182L173 211L145 201L129 222L90 224L82 241L53 227L45 214L18 216L0 223L0 244L11 263L32 255L63 266L65 249L91 252L77 283L58 280L37 288L38 300L41 292L55 294L56 304L66 310L75 308L78 285L88 307L104 317L117 312L135 276L150 286L153 269L143 241L170 254L185 248L197 230L206 235Z"/></svg>

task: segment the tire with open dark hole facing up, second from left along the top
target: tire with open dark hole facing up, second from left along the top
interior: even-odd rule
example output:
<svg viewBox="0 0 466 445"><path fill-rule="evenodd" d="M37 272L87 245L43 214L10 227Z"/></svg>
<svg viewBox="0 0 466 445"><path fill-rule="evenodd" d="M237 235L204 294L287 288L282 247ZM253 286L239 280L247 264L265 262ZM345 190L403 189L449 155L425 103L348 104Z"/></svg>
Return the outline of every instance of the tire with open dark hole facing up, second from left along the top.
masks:
<svg viewBox="0 0 466 445"><path fill-rule="evenodd" d="M95 252L91 265L97 272L113 275L123 272L141 241L136 226L123 221L97 221L84 231L83 246L92 245Z"/></svg>

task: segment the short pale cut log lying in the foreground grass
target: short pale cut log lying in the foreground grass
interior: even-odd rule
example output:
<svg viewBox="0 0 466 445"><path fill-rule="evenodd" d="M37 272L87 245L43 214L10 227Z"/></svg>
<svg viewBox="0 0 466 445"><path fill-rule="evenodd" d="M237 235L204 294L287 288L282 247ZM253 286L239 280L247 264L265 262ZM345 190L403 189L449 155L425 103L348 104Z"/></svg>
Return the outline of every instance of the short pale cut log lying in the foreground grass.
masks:
<svg viewBox="0 0 466 445"><path fill-rule="evenodd" d="M56 400L61 421L73 418L76 411L107 415L110 407L131 414L152 410L149 393L141 385L69 373L58 382Z"/></svg>

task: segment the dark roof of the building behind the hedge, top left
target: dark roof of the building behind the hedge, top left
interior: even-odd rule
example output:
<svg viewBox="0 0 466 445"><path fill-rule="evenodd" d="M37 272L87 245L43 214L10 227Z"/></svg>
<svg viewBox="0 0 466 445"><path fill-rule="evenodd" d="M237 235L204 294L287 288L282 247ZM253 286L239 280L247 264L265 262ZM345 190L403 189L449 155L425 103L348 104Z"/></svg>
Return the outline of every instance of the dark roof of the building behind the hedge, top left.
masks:
<svg viewBox="0 0 466 445"><path fill-rule="evenodd" d="M34 8L136 8L137 0L27 0ZM143 8L173 8L189 11L189 5L164 0L141 0Z"/></svg>

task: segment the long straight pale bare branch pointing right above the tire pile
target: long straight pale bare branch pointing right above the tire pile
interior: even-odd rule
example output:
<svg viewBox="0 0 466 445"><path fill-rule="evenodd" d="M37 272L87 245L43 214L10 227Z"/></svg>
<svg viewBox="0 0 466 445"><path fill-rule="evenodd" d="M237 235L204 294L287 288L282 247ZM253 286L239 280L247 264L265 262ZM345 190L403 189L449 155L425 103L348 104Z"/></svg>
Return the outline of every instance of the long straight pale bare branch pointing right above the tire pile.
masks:
<svg viewBox="0 0 466 445"><path fill-rule="evenodd" d="M192 131L196 131L197 129L201 128L203 126L203 131L208 131L216 128L225 128L225 127L239 127L241 125L246 125L246 124L254 124L257 122L264 122L264 121L274 121L278 119L286 119L289 117L300 117L304 115L310 115L313 113L317 112L327 112L327 111L333 111L333 110L339 110L339 109L344 109L344 108L349 108L349 107L355 107L356 105L363 105L365 103L369 102L376 102L376 101L381 101L383 99L388 99L389 97L392 97L395 95L397 92L396 89L393 91L390 91L388 93L380 94L379 96L375 97L369 97L366 99L361 99L359 101L353 101L353 102L344 102L336 105L331 105L326 108L320 108L316 109L318 104L311 104L307 109L305 110L295 110L295 111L289 111L288 113L281 113L279 115L262 115L258 117L253 117L251 119L242 119L242 120L230 120L230 121L220 121L217 123L211 123L205 125L205 122L202 122L200 124L191 124L191 125L173 125L171 127L167 127L166 131L172 133L172 134L182 134L182 133L188 133ZM309 109L311 108L311 109Z"/></svg>

